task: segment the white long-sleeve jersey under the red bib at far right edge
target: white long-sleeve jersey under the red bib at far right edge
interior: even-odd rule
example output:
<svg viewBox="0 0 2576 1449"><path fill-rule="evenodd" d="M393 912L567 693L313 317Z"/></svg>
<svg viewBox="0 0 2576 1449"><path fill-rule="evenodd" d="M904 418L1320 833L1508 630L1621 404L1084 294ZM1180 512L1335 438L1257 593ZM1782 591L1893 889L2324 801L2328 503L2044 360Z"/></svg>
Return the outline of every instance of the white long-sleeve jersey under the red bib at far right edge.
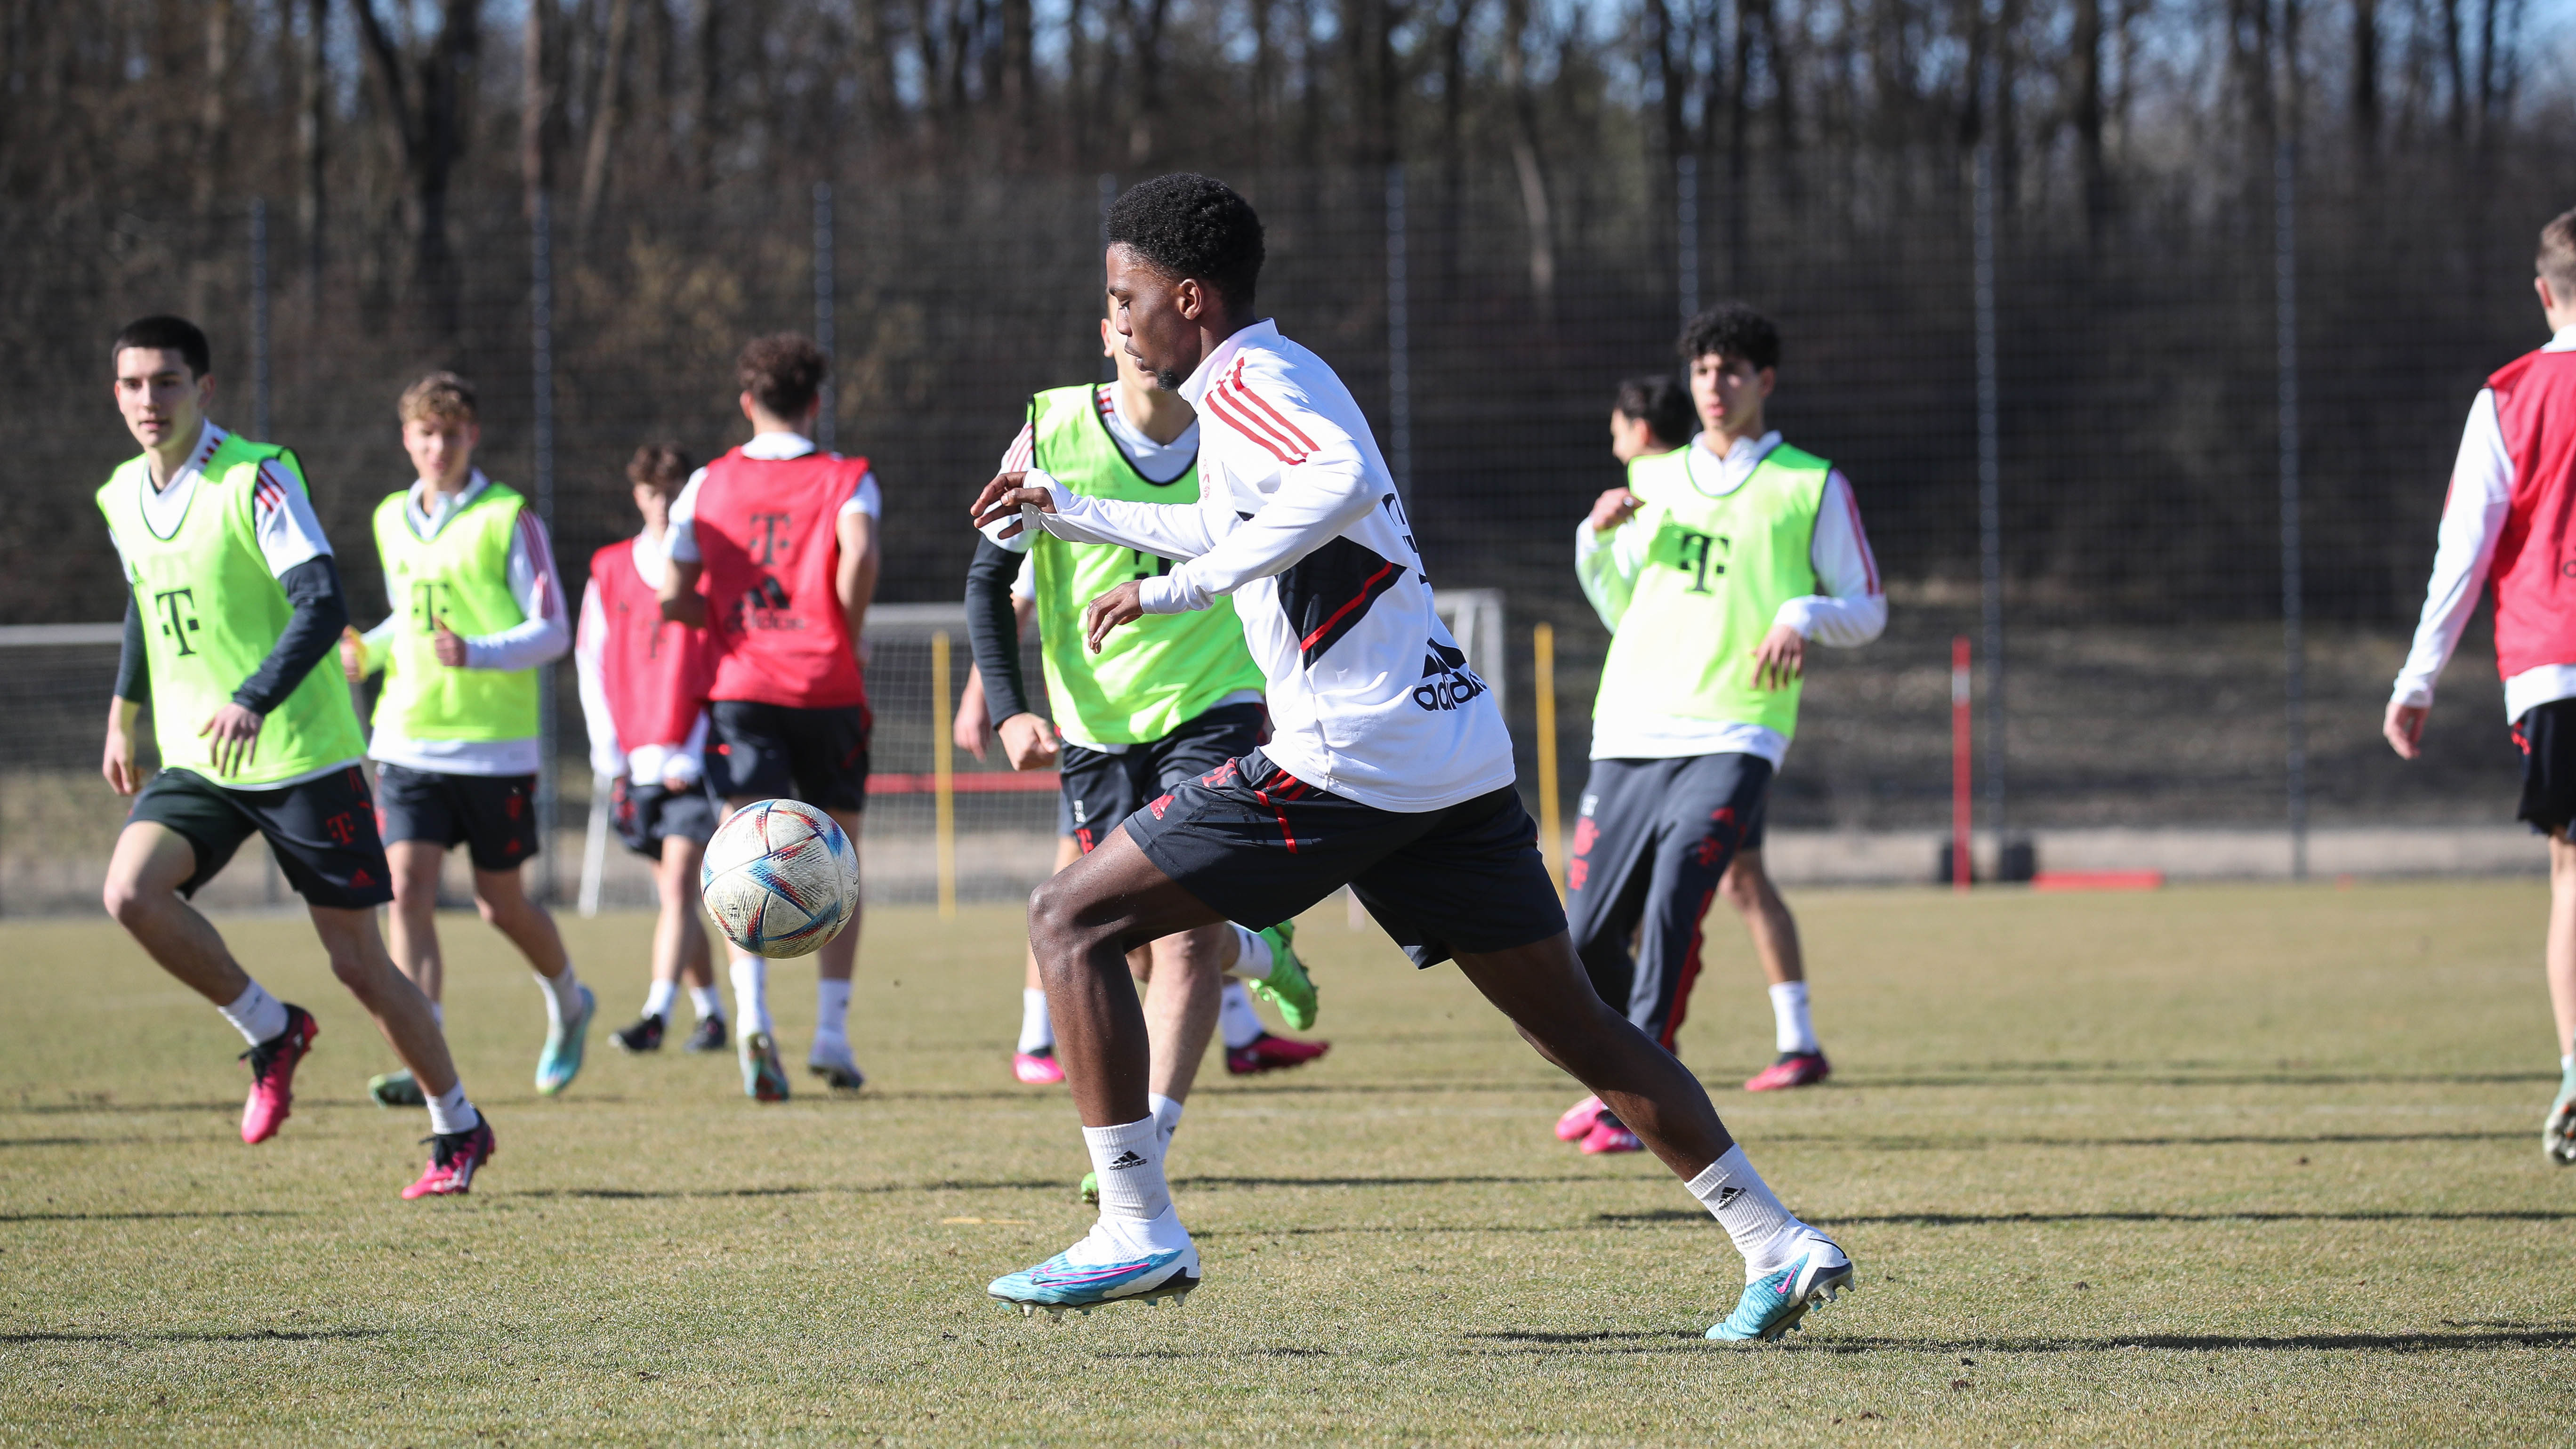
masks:
<svg viewBox="0 0 2576 1449"><path fill-rule="evenodd" d="M2566 327L2545 353L2576 351L2576 327ZM2442 531L2432 554L2432 583L2424 585L2424 616L2416 619L2414 647L2398 668L2393 699L2432 704L2432 683L2460 647L2486 575L2496 562L2496 541L2514 511L2514 456L2496 423L2496 394L2478 389L2460 433L2460 456L2450 464L2450 498L2442 500ZM2540 665L2504 681L2504 719L2522 719L2553 699L2576 699L2576 665Z"/></svg>

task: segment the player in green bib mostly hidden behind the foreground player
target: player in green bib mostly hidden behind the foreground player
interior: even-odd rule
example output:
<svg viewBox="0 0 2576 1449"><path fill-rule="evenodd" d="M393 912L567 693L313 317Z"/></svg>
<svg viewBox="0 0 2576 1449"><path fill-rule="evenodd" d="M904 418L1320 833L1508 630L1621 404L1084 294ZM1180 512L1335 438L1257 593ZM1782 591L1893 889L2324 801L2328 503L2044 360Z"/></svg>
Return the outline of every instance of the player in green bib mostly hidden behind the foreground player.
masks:
<svg viewBox="0 0 2576 1449"><path fill-rule="evenodd" d="M1084 382L1036 394L1028 423L1002 451L1002 472L1038 467L1087 498L1195 503L1198 418L1177 392L1157 389L1154 379L1136 371L1136 358L1113 338L1103 320L1100 345L1118 361L1118 382ZM1030 709L1020 678L1012 593L1023 567L1030 575L1046 694L1056 722ZM974 637L984 709L997 719L994 732L1012 768L1046 768L1061 761L1064 817L1079 853L1092 851L1110 822L1126 820L1154 794L1260 745L1262 670L1244 650L1244 629L1234 619L1231 601L1144 621L1100 652L1082 647L1084 603L1121 580L1151 578L1164 567L1167 559L1136 549L1066 544L1023 531L1007 541L984 539L966 570L966 632ZM1059 859L1059 869L1064 864L1069 861ZM1314 1024L1314 982L1296 957L1293 938L1293 923L1255 933L1218 920L1154 941L1133 962L1146 982L1146 1018L1157 1047L1149 1101L1167 1140L1180 1124L1198 1062L1218 1029L1226 982L1255 982L1291 1029ZM1030 985L1038 985L1036 972L1030 957ZM1043 1018L1046 993L1023 990L1023 1044L1012 1070L1020 1080L1043 1080L1048 1070L1061 1080L1054 1049L1038 1057L1028 1044L1030 1006ZM1236 1062L1252 1070L1303 1065L1327 1049L1329 1044L1288 1042L1262 1031L1242 1049L1229 1047L1226 1065L1229 1070L1236 1070ZM1033 1073L1030 1065L1043 1070Z"/></svg>

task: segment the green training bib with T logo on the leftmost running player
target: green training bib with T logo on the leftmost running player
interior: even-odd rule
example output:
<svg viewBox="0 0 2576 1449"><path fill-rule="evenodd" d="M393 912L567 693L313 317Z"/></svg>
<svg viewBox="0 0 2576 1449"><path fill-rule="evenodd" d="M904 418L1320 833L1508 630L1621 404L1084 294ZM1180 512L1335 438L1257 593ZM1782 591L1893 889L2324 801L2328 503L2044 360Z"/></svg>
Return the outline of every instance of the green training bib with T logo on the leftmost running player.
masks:
<svg viewBox="0 0 2576 1449"><path fill-rule="evenodd" d="M98 490L98 511L126 557L134 608L144 621L152 743L162 768L196 771L232 789L263 789L366 755L337 655L325 655L260 722L258 758L247 768L214 768L214 750L198 737L294 619L294 603L260 552L255 508L265 462L276 464L273 477L283 474L304 490L294 454L227 433L167 539L144 521L152 469L142 456L124 462Z"/></svg>

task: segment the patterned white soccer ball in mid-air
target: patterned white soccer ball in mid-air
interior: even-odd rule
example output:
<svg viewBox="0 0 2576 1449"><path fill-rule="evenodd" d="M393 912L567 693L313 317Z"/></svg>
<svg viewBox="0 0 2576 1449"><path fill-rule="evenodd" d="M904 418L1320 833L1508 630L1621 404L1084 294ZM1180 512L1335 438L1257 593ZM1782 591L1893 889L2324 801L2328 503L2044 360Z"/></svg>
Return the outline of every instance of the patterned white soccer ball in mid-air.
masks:
<svg viewBox="0 0 2576 1449"><path fill-rule="evenodd" d="M799 799L755 799L706 843L698 895L755 957L811 957L858 915L858 848Z"/></svg>

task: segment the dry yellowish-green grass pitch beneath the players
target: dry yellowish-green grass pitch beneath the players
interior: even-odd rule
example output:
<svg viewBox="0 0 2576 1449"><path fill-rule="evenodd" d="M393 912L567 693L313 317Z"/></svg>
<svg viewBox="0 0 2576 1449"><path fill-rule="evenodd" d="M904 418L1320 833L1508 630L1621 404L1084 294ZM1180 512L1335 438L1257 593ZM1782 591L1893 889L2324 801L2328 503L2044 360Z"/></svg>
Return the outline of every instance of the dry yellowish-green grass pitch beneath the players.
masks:
<svg viewBox="0 0 2576 1449"><path fill-rule="evenodd" d="M773 1109L605 1044L536 1098L536 987L448 918L502 1150L425 1204L301 920L224 920L325 1026L255 1150L214 1011L103 920L10 923L0 1441L2563 1441L2540 887L1795 905L1834 1083L1734 1091L1770 1013L1726 923L1682 1049L1862 1292L1754 1351L1700 1341L1741 1276L1682 1189L1561 1147L1579 1091L1337 908L1334 1055L1216 1070L1180 1132L1208 1287L1064 1323L984 1299L1087 1222L1064 1093L1007 1078L1015 913L871 915L871 1088ZM647 928L567 920L611 1018Z"/></svg>

